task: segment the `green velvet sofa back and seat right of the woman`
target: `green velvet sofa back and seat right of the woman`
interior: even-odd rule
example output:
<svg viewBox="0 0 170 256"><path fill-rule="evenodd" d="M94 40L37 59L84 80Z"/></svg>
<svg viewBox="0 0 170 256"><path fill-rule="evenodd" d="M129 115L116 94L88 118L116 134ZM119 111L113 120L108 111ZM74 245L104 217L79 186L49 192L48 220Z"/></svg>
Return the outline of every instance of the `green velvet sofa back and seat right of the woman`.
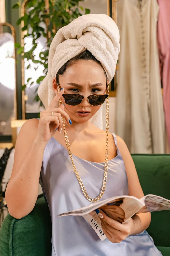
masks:
<svg viewBox="0 0 170 256"><path fill-rule="evenodd" d="M144 195L170 200L170 155L132 154ZM163 256L170 256L170 210L152 212L147 229Z"/></svg>

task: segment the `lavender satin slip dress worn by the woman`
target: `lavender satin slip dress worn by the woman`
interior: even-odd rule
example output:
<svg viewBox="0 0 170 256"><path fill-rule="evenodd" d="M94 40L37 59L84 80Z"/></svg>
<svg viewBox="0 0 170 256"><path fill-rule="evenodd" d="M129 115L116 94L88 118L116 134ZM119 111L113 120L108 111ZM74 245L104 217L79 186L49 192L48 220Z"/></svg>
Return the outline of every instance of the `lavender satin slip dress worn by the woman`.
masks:
<svg viewBox="0 0 170 256"><path fill-rule="evenodd" d="M112 135L117 146L117 138L114 133ZM95 198L101 189L105 163L72 156L87 193ZM52 256L162 255L146 230L114 244L107 238L102 242L82 216L57 218L59 213L88 206L91 202L82 194L68 150L54 137L49 140L44 151L40 184L52 220ZM126 169L117 147L117 156L108 161L106 189L101 200L128 194Z"/></svg>

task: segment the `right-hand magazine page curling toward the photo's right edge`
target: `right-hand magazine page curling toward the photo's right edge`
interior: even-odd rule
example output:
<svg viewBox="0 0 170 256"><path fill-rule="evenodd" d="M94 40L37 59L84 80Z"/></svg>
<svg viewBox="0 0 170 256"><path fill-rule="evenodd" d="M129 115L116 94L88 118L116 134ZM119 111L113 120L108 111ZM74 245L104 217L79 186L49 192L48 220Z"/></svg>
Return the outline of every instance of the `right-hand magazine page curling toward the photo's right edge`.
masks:
<svg viewBox="0 0 170 256"><path fill-rule="evenodd" d="M137 214L162 211L162 210L170 210L170 200L165 199L161 196L149 194L142 197L141 200L145 203L145 206L142 207L137 212Z"/></svg>

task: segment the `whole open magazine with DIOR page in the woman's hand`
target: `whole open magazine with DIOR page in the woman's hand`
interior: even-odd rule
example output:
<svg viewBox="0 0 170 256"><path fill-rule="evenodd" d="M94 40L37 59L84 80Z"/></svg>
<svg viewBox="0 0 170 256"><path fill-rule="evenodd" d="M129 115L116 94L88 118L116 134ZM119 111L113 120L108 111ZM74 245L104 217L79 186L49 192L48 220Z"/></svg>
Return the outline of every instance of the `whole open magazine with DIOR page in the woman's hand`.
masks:
<svg viewBox="0 0 170 256"><path fill-rule="evenodd" d="M95 211L98 208L106 213L108 217L123 224L135 214L170 210L170 200L152 194L148 194L141 199L135 196L115 196L73 211L60 213L58 217L67 215L83 216L103 241L106 236L103 233L97 211Z"/></svg>

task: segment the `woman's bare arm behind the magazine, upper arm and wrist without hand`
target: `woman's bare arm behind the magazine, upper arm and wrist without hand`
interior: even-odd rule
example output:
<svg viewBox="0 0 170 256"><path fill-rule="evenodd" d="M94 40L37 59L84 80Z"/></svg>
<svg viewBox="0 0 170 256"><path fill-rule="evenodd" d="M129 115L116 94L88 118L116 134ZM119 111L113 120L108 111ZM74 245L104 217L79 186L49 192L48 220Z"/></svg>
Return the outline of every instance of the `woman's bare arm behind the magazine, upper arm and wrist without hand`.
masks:
<svg viewBox="0 0 170 256"><path fill-rule="evenodd" d="M119 136L116 137L118 142L118 148L125 163L128 178L129 195L135 196L140 199L144 196L144 193L139 182L132 156L124 140L121 139ZM134 221L134 230L132 232L132 235L139 234L149 227L151 222L151 213L135 214L132 219Z"/></svg>

